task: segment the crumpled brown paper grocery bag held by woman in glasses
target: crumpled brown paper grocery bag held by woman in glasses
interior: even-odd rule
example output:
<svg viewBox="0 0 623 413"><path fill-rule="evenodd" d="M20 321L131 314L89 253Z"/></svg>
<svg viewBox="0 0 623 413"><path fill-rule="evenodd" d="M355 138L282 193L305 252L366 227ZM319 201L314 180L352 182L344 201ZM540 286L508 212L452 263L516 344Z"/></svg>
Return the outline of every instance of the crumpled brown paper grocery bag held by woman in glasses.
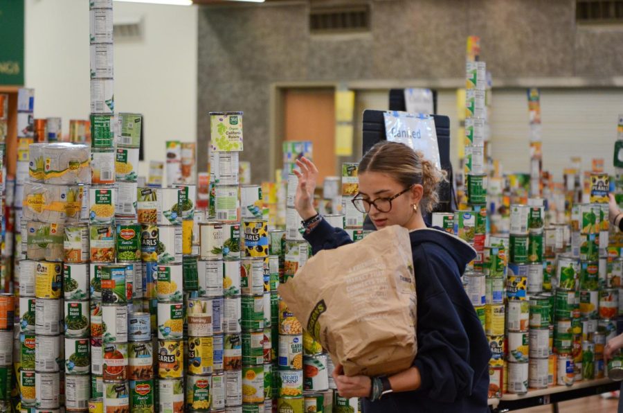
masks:
<svg viewBox="0 0 623 413"><path fill-rule="evenodd" d="M279 293L347 376L395 374L413 363L417 303L408 229L394 225L323 250Z"/></svg>

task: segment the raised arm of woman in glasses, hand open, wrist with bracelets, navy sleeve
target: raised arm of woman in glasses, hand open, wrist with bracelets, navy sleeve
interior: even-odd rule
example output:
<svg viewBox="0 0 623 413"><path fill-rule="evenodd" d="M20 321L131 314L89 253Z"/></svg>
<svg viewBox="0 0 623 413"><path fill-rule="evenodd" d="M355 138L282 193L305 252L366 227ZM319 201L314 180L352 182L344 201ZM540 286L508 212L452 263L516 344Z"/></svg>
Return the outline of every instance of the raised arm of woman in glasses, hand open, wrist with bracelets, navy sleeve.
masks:
<svg viewBox="0 0 623 413"><path fill-rule="evenodd" d="M322 249L334 249L352 243L350 236L343 229L332 227L323 218L314 220L314 217L318 215L314 209L314 191L318 169L305 157L297 159L296 165L300 171L294 170L294 174L298 177L294 207L304 222L315 221L309 225L303 234L303 238L311 245L312 254L316 254Z"/></svg>

